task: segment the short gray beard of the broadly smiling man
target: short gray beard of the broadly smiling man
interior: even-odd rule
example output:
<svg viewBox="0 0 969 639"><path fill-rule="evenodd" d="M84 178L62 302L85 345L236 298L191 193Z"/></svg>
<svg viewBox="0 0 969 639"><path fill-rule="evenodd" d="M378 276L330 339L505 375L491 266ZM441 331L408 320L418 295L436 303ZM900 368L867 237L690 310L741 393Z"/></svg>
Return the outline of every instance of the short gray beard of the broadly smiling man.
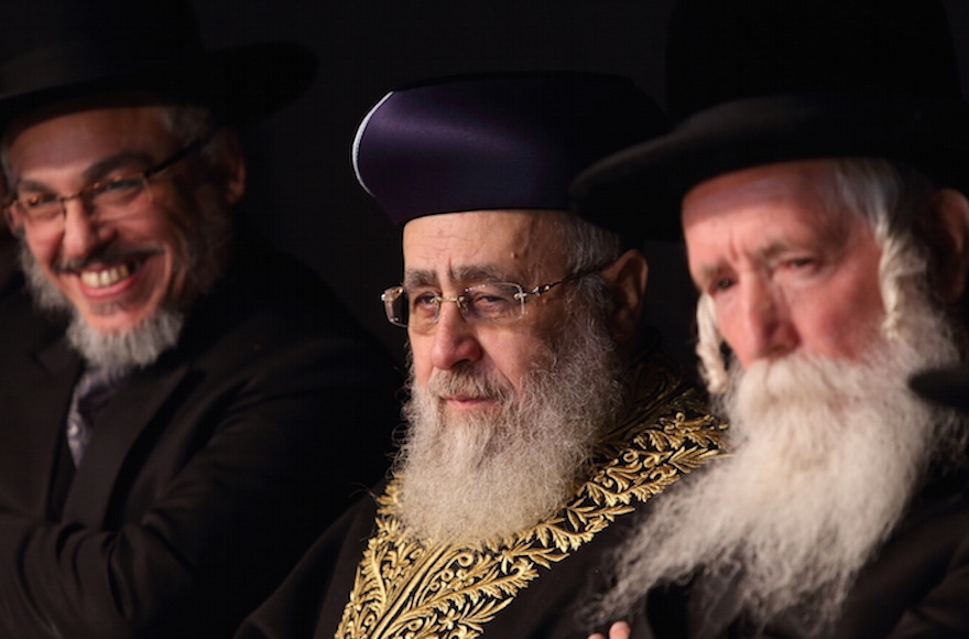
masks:
<svg viewBox="0 0 969 639"><path fill-rule="evenodd" d="M47 279L23 240L20 240L20 263L34 304L41 311L69 317L67 342L89 365L112 369L144 368L178 343L185 323L183 313L162 307L131 331L106 335L94 329Z"/></svg>

